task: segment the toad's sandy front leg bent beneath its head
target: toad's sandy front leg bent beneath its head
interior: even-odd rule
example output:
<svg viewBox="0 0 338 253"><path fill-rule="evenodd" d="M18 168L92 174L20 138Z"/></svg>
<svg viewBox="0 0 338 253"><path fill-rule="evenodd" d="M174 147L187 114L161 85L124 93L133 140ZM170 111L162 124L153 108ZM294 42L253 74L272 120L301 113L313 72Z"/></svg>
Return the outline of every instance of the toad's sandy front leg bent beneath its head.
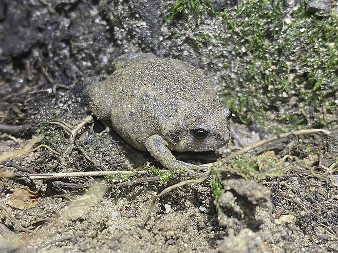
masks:
<svg viewBox="0 0 338 253"><path fill-rule="evenodd" d="M156 161L168 169L206 170L208 168L176 160L167 148L168 143L159 134L154 134L145 142L145 147Z"/></svg>

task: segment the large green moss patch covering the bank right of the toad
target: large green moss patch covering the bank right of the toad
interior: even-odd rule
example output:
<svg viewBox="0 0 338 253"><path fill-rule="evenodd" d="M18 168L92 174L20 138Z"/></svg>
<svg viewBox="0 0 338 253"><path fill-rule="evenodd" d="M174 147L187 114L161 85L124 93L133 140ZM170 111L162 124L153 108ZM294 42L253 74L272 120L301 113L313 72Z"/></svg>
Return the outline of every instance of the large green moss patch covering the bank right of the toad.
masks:
<svg viewBox="0 0 338 253"><path fill-rule="evenodd" d="M274 121L286 129L328 124L323 108L332 115L338 110L334 10L320 19L302 4L285 19L282 0L241 1L235 11L211 9L208 1L176 1L168 17L181 23L171 31L191 36L184 32L189 27L196 51L205 54L207 48L208 70L223 80L224 104L239 121L264 127ZM199 18L198 26L183 24L192 16ZM217 29L204 29L203 21L211 19Z"/></svg>

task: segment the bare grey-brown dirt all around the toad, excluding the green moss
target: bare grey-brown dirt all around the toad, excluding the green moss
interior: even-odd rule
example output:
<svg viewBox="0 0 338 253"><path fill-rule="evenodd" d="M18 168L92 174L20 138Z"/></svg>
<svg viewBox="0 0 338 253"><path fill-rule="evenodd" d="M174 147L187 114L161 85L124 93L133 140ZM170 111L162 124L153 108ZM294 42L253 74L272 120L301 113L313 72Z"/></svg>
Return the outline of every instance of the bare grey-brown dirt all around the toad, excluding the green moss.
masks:
<svg viewBox="0 0 338 253"><path fill-rule="evenodd" d="M235 139L216 152L177 154L198 164L218 161L205 180L202 172L158 174L164 168L148 153L88 118L88 84L104 80L113 59L127 51L189 62L224 100L229 90L245 91L222 80L245 78L252 53L237 59L217 41L202 48L192 43L219 25L210 10L235 11L237 2L192 3L199 3L199 21L187 24L186 15L195 16L186 11L169 25L172 1L0 1L0 252L338 252L338 131L331 104L318 109L314 97L306 104L296 91L285 98L284 91L273 96L264 88L266 96L255 102L267 104L265 124L254 111L234 106L233 128L245 146L287 132L276 126L329 133L291 134L233 158L240 148ZM311 15L328 18L324 7L311 7ZM284 8L289 18L291 7ZM231 69L219 69L215 55L223 50ZM327 101L318 103L334 103L335 86L322 88ZM295 100L301 102L292 107ZM277 120L290 108L306 123ZM90 171L134 176L35 175ZM154 199L185 180L200 182Z"/></svg>

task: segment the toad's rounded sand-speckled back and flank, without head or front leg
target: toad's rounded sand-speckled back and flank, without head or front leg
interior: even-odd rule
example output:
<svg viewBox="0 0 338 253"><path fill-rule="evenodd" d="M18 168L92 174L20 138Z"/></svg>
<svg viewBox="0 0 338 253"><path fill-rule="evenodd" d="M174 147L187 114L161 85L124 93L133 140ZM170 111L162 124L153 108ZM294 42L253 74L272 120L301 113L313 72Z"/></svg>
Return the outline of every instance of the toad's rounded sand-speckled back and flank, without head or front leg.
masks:
<svg viewBox="0 0 338 253"><path fill-rule="evenodd" d="M168 119L222 107L211 86L192 66L173 59L134 59L90 90L91 109L110 119L129 144L163 129Z"/></svg>

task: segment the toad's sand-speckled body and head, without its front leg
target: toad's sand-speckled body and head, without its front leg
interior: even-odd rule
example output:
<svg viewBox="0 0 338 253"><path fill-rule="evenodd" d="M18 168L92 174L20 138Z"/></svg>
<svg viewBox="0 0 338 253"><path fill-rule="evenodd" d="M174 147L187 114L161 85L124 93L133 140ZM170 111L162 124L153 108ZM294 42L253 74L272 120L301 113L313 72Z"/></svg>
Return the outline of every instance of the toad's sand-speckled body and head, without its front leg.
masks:
<svg viewBox="0 0 338 253"><path fill-rule="evenodd" d="M197 69L140 55L125 56L105 83L90 86L90 108L97 117L110 119L115 131L140 150L147 150L145 143L154 134L179 152L226 144L231 112ZM208 137L196 138L195 129L208 131Z"/></svg>

